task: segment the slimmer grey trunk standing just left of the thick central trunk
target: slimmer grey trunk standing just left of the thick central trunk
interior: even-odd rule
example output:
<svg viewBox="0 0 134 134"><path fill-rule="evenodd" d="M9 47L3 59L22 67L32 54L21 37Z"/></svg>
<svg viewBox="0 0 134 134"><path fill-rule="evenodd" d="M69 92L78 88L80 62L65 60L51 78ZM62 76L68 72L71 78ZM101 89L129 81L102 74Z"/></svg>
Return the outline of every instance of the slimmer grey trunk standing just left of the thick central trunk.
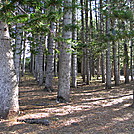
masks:
<svg viewBox="0 0 134 134"><path fill-rule="evenodd" d="M48 36L48 55L47 55L47 66L46 66L46 79L45 79L45 90L52 91L52 81L54 77L54 30L55 24L51 22L50 31L51 33Z"/></svg>

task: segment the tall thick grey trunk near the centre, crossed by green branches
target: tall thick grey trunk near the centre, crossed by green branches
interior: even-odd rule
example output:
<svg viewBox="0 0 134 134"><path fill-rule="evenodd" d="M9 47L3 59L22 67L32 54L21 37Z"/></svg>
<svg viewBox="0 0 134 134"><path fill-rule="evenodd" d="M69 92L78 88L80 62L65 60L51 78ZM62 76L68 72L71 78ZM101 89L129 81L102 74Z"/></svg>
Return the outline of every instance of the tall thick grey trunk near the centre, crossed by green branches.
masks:
<svg viewBox="0 0 134 134"><path fill-rule="evenodd" d="M64 0L64 16L63 26L72 24L72 11L70 7L72 0ZM59 102L70 101L70 70L71 70L71 54L68 52L71 49L71 44L66 40L72 39L72 32L69 29L63 28L63 38L65 42L61 44L59 56L59 83L58 97Z"/></svg>

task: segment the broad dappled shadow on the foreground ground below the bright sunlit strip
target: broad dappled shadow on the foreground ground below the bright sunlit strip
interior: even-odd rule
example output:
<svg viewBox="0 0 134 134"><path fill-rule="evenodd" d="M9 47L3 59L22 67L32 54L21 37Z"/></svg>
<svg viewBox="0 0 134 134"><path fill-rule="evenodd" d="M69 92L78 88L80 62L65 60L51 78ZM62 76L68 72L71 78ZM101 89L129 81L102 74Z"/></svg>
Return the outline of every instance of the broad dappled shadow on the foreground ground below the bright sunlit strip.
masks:
<svg viewBox="0 0 134 134"><path fill-rule="evenodd" d="M9 133L16 132L16 134L132 133L134 112L133 109L125 107L126 104L128 104L128 101L112 106L84 109L66 115L46 117L45 119L51 122L50 126L27 123L8 125L3 123L1 128L3 129L3 134L7 130Z"/></svg>

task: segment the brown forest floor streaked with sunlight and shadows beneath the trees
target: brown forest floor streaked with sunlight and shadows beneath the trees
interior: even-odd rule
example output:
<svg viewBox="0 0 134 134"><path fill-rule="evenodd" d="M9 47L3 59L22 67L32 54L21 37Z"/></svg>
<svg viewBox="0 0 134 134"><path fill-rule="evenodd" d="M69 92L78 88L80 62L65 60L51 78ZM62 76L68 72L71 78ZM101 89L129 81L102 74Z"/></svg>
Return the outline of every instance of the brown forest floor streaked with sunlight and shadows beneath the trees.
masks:
<svg viewBox="0 0 134 134"><path fill-rule="evenodd" d="M100 80L71 88L71 102L57 103L54 92L43 91L27 74L20 83L20 115L0 121L0 134L134 134L132 90L134 82L106 90ZM17 119L46 119L49 126L18 122Z"/></svg>

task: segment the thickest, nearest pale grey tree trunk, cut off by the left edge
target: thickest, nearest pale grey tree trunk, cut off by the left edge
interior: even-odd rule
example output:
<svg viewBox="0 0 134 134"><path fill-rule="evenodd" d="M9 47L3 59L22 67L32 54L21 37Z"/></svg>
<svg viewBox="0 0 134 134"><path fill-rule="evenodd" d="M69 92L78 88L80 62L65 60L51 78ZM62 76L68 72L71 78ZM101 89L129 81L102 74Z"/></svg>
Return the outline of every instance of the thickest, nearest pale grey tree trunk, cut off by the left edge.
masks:
<svg viewBox="0 0 134 134"><path fill-rule="evenodd" d="M0 21L0 118L11 118L18 112L18 83L8 26Z"/></svg>

